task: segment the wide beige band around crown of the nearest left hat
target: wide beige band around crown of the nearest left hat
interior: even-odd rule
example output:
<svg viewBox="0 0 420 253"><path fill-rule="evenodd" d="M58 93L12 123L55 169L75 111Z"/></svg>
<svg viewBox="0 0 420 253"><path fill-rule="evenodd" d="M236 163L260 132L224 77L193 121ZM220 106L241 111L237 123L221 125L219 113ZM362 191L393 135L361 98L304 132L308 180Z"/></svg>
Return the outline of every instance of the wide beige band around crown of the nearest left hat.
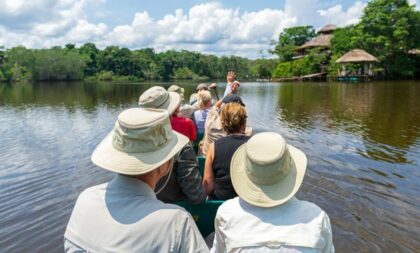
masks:
<svg viewBox="0 0 420 253"><path fill-rule="evenodd" d="M117 121L114 126L112 145L125 153L147 153L161 149L172 138L174 135L169 118L153 127L136 129L124 127Z"/></svg>

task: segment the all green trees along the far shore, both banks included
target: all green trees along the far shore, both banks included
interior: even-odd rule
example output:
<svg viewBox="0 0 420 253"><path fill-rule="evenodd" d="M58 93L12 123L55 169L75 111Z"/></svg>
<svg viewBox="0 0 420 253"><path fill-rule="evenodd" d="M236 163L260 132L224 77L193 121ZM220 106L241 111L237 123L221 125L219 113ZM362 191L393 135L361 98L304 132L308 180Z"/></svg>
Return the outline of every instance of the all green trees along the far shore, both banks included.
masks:
<svg viewBox="0 0 420 253"><path fill-rule="evenodd" d="M284 29L278 41L271 42L274 49L269 52L275 57L271 59L217 57L187 50L156 53L152 48L118 46L101 50L90 42L49 49L0 46L0 82L204 81L223 79L230 70L242 80L335 78L343 71L336 60L353 49L363 49L378 59L372 71L369 65L375 78L420 78L420 12L407 0L372 0L357 24L334 28L327 44L305 48L324 36L321 30L317 34L310 25ZM361 73L363 68L362 62L345 64L348 73Z"/></svg>

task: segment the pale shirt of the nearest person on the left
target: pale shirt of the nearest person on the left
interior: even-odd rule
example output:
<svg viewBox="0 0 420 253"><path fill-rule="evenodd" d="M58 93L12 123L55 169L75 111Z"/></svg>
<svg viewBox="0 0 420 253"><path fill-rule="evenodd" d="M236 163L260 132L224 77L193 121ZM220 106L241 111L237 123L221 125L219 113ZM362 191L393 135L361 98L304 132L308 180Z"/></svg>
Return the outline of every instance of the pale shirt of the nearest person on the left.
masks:
<svg viewBox="0 0 420 253"><path fill-rule="evenodd" d="M80 194L64 237L67 252L208 252L189 213L122 175Z"/></svg>

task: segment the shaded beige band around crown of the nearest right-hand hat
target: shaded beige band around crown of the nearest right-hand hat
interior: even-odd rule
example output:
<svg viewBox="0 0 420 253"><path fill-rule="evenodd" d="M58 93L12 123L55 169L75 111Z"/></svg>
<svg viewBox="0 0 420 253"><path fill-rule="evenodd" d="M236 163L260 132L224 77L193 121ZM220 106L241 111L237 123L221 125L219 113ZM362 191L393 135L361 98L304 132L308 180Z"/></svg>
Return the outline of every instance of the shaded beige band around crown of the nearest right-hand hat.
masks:
<svg viewBox="0 0 420 253"><path fill-rule="evenodd" d="M291 171L291 156L286 149L283 156L271 164L258 164L247 158L248 178L259 185L272 185L285 178Z"/></svg>

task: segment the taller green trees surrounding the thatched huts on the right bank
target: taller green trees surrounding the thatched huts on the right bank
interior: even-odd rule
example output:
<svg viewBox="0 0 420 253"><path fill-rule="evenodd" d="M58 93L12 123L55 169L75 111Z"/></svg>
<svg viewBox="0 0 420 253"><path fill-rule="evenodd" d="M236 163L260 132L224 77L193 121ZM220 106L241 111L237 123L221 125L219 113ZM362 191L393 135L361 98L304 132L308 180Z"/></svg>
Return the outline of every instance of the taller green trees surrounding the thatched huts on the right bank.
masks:
<svg viewBox="0 0 420 253"><path fill-rule="evenodd" d="M305 27L292 27L280 34L275 53L281 61L291 61L294 49L305 38ZM309 30L308 30L309 31ZM291 34L303 34L302 37ZM297 38L297 39L296 39ZM418 58L408 51L420 48L420 12L410 6L407 0L372 0L358 24L334 31L331 40L331 56L312 52L305 59L279 64L273 71L274 76L291 77L297 74L324 71L328 66L329 75L336 75L340 65L335 61L348 51L360 48L376 56L380 62L375 64L375 72L387 78L407 78L419 75ZM318 52L319 53L319 52ZM347 69L357 70L361 66L347 65Z"/></svg>

